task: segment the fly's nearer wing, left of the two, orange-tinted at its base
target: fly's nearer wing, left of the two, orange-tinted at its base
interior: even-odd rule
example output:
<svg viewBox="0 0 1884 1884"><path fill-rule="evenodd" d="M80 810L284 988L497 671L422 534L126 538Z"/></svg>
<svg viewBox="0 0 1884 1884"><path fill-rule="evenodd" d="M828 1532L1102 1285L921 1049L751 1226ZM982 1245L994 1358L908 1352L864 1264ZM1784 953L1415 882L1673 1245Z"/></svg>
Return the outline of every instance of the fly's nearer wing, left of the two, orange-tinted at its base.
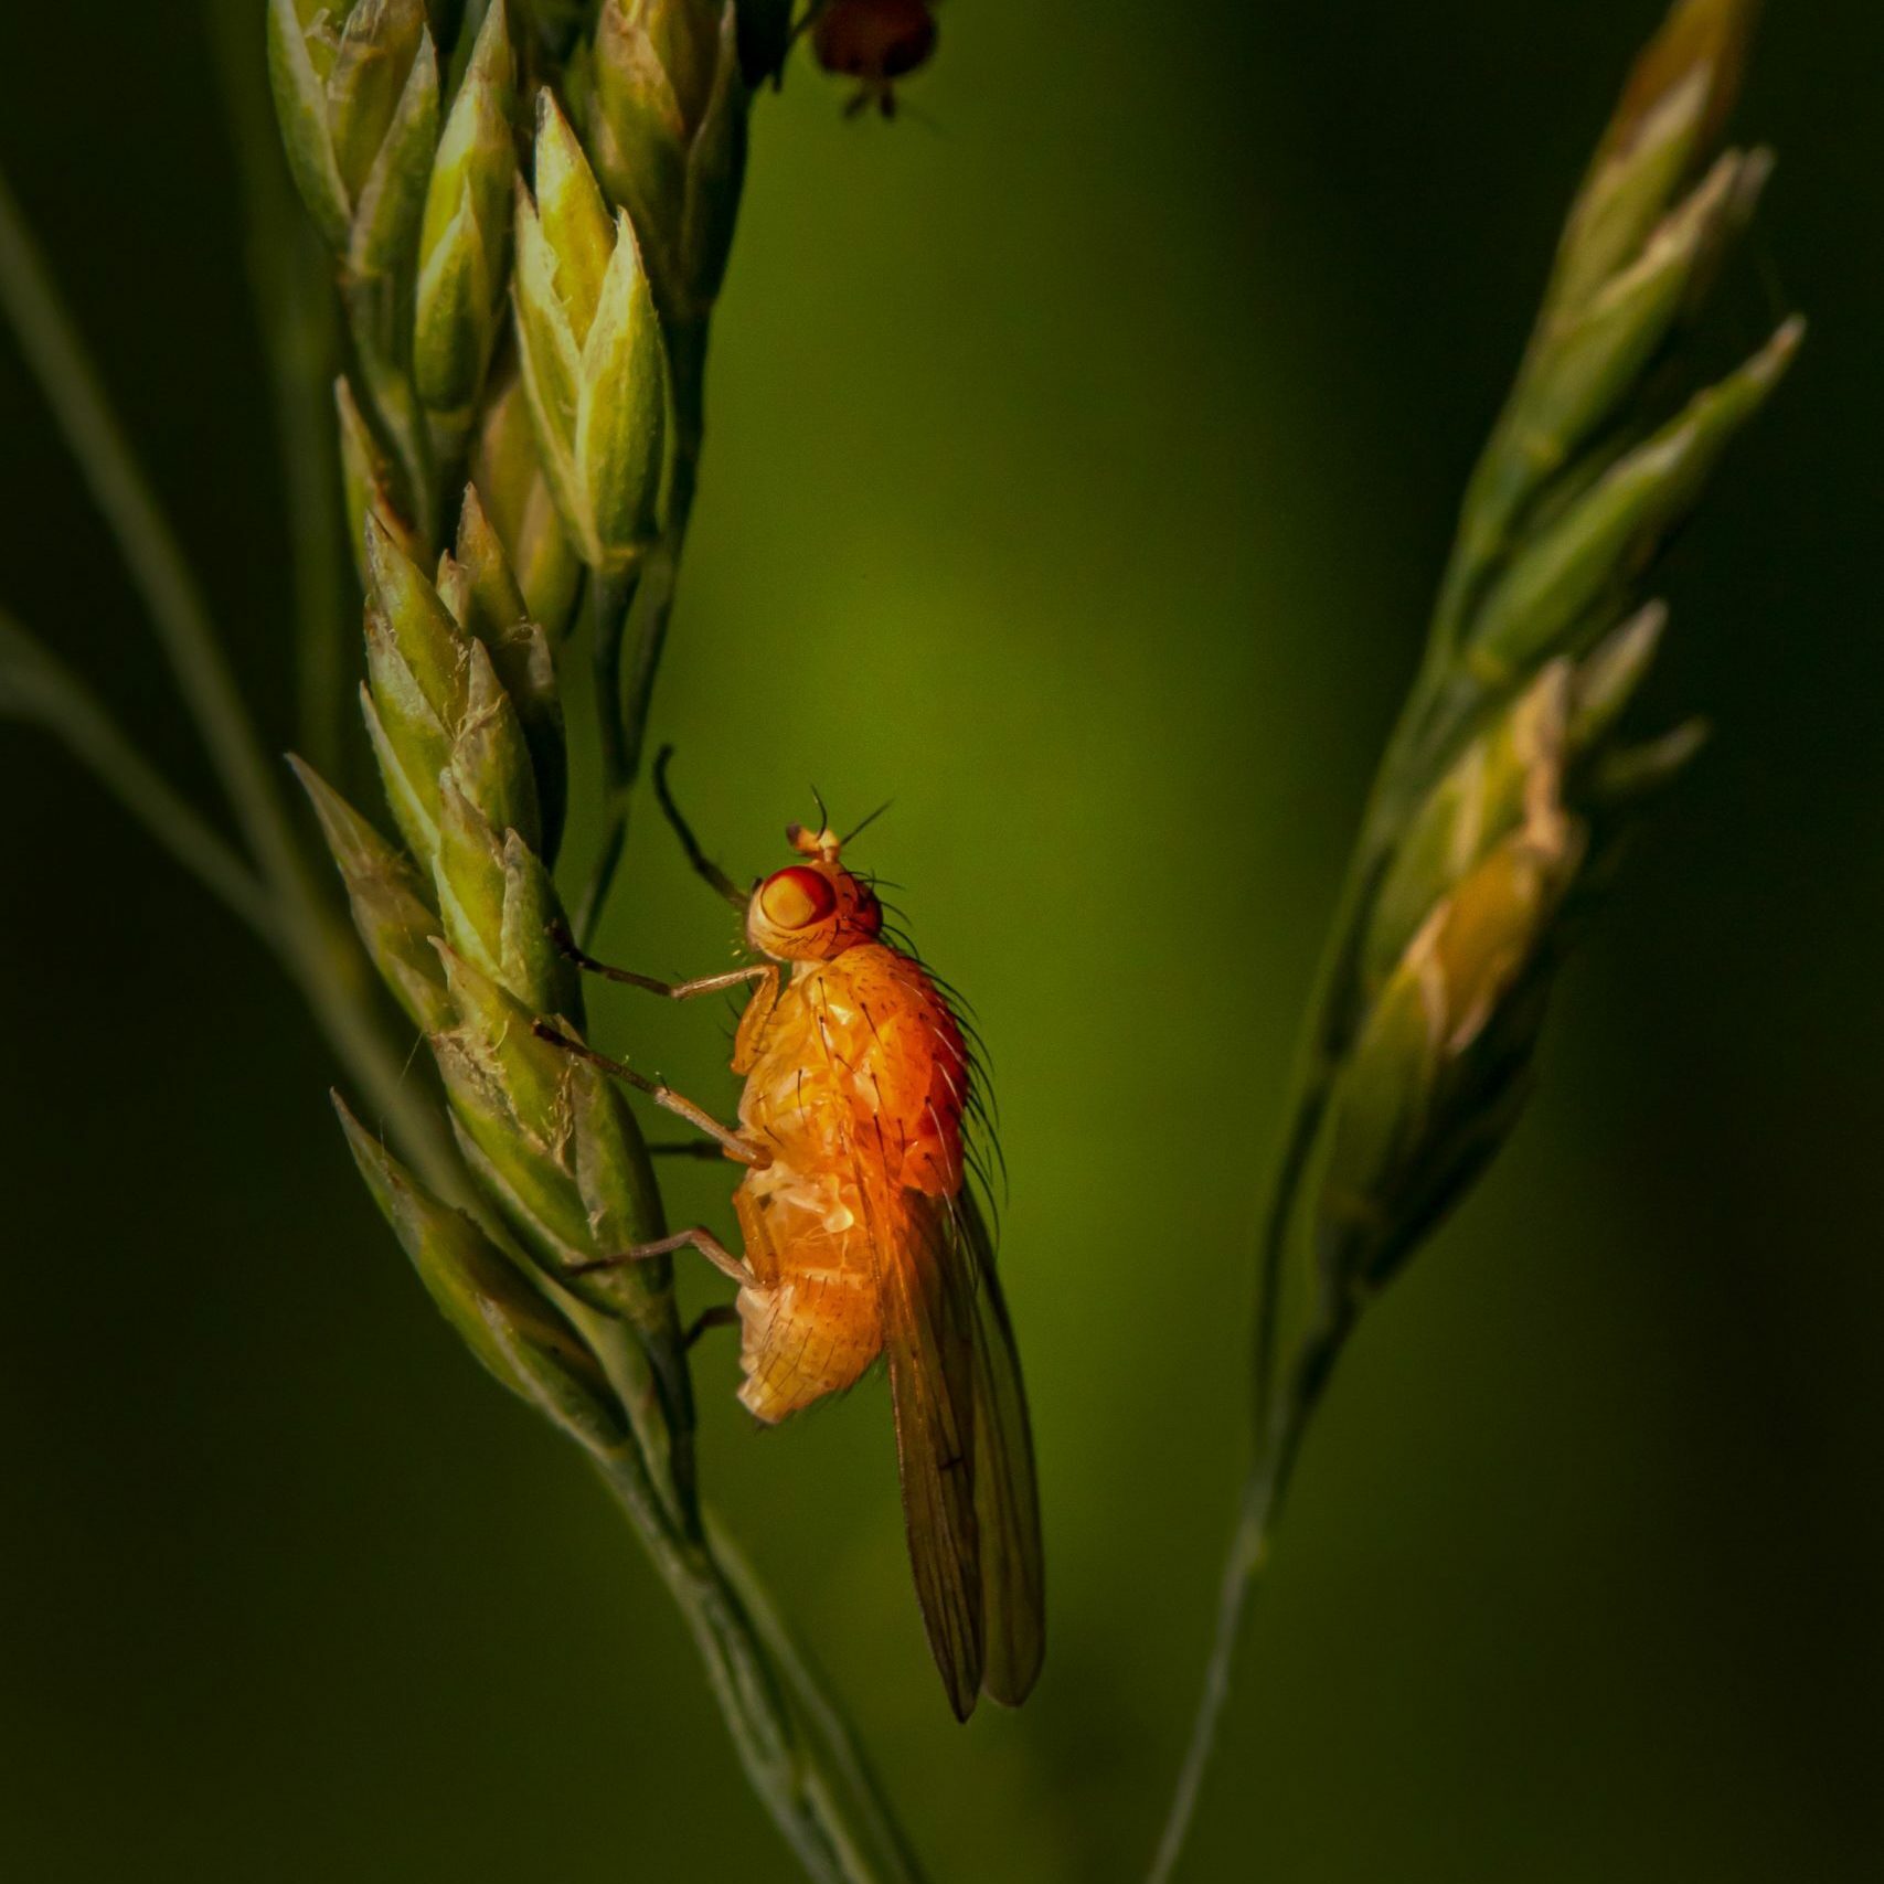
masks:
<svg viewBox="0 0 1884 1884"><path fill-rule="evenodd" d="M870 1198L872 1185L863 1191ZM878 1191L867 1210L916 1600L950 1705L966 1720L985 1656L974 1287L942 1198Z"/></svg>

